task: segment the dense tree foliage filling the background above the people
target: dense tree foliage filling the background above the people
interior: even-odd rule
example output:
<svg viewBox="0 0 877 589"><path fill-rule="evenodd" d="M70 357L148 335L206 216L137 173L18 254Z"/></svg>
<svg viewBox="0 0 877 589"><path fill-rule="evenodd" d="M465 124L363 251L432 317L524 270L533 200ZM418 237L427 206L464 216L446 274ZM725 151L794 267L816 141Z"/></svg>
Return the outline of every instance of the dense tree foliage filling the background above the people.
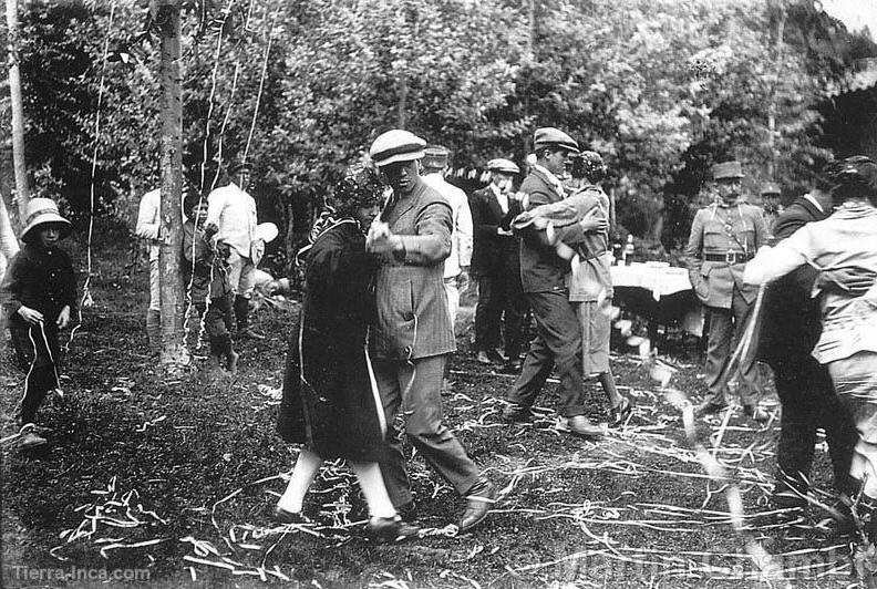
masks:
<svg viewBox="0 0 877 589"><path fill-rule="evenodd" d="M146 4L23 6L29 163L38 190L73 211L87 211L95 153L99 211L157 183ZM654 236L667 216L679 237L718 159L742 159L752 189L767 179L805 189L832 155L814 106L856 59L877 54L812 0L184 6L186 175L206 193L221 163L246 153L260 214L290 234L307 230L311 207L386 128L478 167L523 161L533 130L553 125L603 154L628 229Z"/></svg>

